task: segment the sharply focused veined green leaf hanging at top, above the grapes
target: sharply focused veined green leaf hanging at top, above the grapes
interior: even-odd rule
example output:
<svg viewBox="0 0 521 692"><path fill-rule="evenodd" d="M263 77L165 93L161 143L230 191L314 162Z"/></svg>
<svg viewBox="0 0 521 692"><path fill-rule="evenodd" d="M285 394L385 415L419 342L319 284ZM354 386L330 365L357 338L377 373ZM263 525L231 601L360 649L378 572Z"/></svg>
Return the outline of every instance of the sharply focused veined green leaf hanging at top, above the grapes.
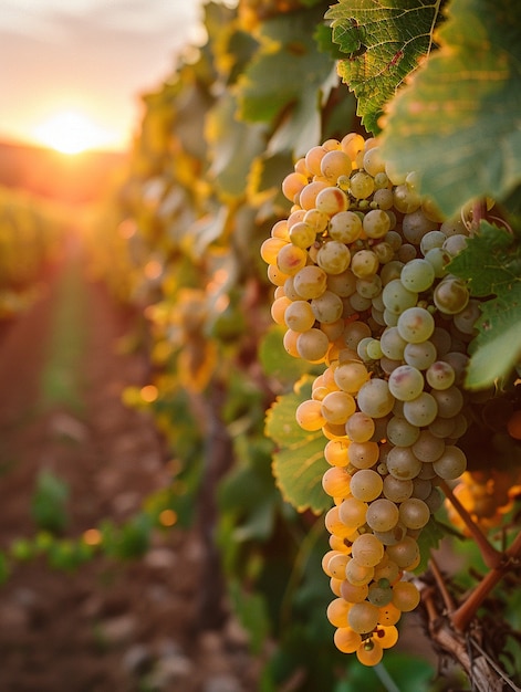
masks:
<svg viewBox="0 0 521 692"><path fill-rule="evenodd" d="M326 12L333 41L348 55L338 74L368 132L379 132L384 105L428 54L438 17L439 0L341 0Z"/></svg>

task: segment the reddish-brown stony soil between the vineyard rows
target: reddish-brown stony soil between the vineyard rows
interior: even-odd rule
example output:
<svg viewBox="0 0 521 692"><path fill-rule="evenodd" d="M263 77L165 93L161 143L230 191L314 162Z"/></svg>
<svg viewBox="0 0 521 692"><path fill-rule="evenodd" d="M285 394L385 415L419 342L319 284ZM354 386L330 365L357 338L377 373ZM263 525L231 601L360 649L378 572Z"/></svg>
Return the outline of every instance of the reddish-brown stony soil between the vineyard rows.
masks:
<svg viewBox="0 0 521 692"><path fill-rule="evenodd" d="M61 271L0 327L3 551L37 532L30 499L42 470L69 484L71 536L123 522L169 479L153 420L121 401L124 387L147 384L147 361L116 348L133 321L103 286L84 280L84 411L39 406ZM260 663L226 604L219 627L198 620L204 558L198 534L174 527L143 559L97 556L72 573L17 560L0 587L0 692L254 692Z"/></svg>

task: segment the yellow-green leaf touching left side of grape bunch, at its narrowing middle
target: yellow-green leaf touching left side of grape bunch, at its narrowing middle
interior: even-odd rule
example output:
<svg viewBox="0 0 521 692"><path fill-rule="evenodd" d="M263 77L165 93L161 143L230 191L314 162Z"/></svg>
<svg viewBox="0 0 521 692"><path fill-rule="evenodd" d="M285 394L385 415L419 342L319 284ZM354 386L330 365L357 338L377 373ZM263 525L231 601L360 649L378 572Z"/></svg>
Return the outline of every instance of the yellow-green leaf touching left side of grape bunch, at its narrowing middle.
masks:
<svg viewBox="0 0 521 692"><path fill-rule="evenodd" d="M268 410L265 433L279 447L273 454L273 475L284 500L298 512L320 514L331 504L321 483L329 469L324 436L321 430L305 432L295 420L296 407L311 396L311 381L304 376L294 392L278 397Z"/></svg>

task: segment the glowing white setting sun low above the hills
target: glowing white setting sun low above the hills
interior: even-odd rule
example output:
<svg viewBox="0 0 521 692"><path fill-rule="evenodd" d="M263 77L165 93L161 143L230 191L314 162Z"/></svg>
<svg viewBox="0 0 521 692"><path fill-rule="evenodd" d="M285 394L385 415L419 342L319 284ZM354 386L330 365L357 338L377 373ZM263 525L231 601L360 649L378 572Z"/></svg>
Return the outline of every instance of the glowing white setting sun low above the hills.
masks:
<svg viewBox="0 0 521 692"><path fill-rule="evenodd" d="M111 144L111 134L74 111L53 115L35 128L38 140L62 154L80 154Z"/></svg>

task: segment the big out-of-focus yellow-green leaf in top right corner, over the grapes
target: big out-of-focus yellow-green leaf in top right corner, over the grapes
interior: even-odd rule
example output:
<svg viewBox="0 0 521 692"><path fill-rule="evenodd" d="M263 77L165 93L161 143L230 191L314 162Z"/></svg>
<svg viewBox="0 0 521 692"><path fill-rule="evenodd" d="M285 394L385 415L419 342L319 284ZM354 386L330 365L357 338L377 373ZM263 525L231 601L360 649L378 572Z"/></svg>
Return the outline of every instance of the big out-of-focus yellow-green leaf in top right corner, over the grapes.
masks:
<svg viewBox="0 0 521 692"><path fill-rule="evenodd" d="M393 101L383 154L448 217L521 179L521 3L454 0L440 50Z"/></svg>

